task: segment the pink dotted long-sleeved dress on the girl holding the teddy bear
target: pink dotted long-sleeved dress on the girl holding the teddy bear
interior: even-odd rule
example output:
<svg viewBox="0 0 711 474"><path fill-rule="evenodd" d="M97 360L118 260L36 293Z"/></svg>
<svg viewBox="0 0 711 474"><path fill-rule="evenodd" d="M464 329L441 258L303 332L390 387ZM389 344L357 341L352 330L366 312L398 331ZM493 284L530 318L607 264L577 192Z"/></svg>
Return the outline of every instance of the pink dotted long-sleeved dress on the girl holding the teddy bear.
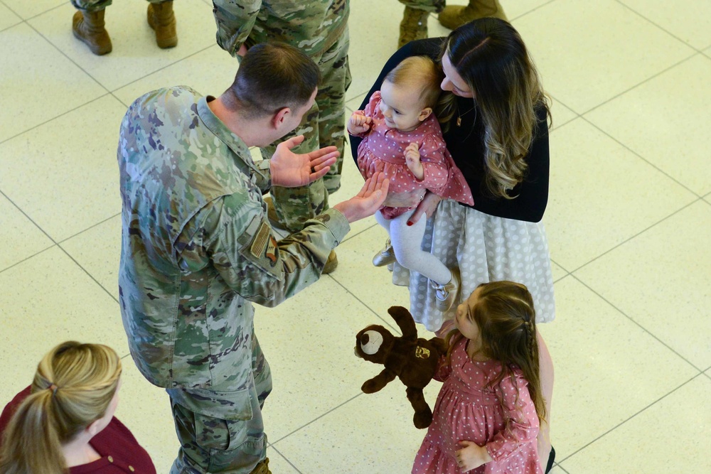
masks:
<svg viewBox="0 0 711 474"><path fill-rule="evenodd" d="M501 372L501 363L472 361L468 342L457 343L451 364L437 373L444 384L412 474L543 474L536 448L538 417L523 373L516 367L513 379L486 387ZM462 471L455 456L459 441L486 445L493 460Z"/></svg>

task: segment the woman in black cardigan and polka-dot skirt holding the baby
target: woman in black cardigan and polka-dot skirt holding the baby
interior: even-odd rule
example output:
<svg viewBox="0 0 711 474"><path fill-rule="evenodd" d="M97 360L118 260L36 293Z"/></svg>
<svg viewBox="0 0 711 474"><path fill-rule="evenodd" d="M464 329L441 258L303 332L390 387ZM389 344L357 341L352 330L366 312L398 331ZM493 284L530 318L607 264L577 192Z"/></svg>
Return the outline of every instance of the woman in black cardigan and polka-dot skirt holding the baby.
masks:
<svg viewBox="0 0 711 474"><path fill-rule="evenodd" d="M533 296L536 323L552 321L550 254L540 222L548 200L550 113L523 40L508 22L480 18L456 28L447 38L412 41L387 61L370 94L380 89L395 65L413 55L429 55L442 65L440 87L445 92L440 97L442 107L435 112L440 122L446 122L444 141L466 178L474 205L440 202L429 192L388 193L385 205L417 205L412 223L431 217L422 249L447 268L459 268L461 295L489 281L516 281ZM358 139L351 140L351 147L356 156ZM449 311L440 311L436 290L426 277L397 262L393 266L393 283L410 288L415 320L446 333L461 297ZM538 343L542 392L550 417L553 365L540 335ZM547 430L543 424L538 440L543 463L552 461Z"/></svg>

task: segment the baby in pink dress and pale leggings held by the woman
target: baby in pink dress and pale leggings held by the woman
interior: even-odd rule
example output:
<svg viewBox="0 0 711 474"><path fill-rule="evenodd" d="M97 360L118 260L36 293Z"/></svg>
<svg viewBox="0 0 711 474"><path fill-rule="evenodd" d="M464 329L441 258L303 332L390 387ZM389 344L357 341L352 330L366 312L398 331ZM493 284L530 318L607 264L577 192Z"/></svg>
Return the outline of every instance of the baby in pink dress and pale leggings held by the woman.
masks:
<svg viewBox="0 0 711 474"><path fill-rule="evenodd" d="M469 185L456 167L432 111L442 90L442 72L431 58L413 56L385 77L380 91L364 110L353 112L348 133L360 136L358 168L363 178L382 171L394 193L429 190L442 198L474 205ZM408 223L415 208L383 207L375 219L390 234L373 259L385 266L397 259L407 269L427 276L437 290L437 306L447 311L459 292L459 271L448 269L420 247L427 222Z"/></svg>

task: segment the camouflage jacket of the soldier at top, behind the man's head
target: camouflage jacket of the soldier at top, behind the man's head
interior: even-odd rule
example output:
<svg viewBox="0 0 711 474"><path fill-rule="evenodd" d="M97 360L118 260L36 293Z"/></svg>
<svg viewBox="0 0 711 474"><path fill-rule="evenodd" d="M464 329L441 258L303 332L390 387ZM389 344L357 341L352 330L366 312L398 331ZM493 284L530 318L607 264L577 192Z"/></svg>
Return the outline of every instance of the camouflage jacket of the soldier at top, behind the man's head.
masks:
<svg viewBox="0 0 711 474"><path fill-rule="evenodd" d="M214 0L218 44L230 55L282 41L314 57L336 43L348 24L349 0Z"/></svg>

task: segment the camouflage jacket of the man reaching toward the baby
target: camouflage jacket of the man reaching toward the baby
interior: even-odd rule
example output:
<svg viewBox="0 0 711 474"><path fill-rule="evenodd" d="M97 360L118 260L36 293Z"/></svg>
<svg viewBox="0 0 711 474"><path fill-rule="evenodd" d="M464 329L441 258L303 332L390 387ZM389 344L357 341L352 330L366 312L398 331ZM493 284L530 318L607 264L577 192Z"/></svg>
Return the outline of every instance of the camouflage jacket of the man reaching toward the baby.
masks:
<svg viewBox="0 0 711 474"><path fill-rule="evenodd" d="M262 200L269 162L252 161L210 99L156 90L122 121L119 304L150 382L229 401L252 376L251 302L275 306L318 280L350 227L328 210L277 241Z"/></svg>

